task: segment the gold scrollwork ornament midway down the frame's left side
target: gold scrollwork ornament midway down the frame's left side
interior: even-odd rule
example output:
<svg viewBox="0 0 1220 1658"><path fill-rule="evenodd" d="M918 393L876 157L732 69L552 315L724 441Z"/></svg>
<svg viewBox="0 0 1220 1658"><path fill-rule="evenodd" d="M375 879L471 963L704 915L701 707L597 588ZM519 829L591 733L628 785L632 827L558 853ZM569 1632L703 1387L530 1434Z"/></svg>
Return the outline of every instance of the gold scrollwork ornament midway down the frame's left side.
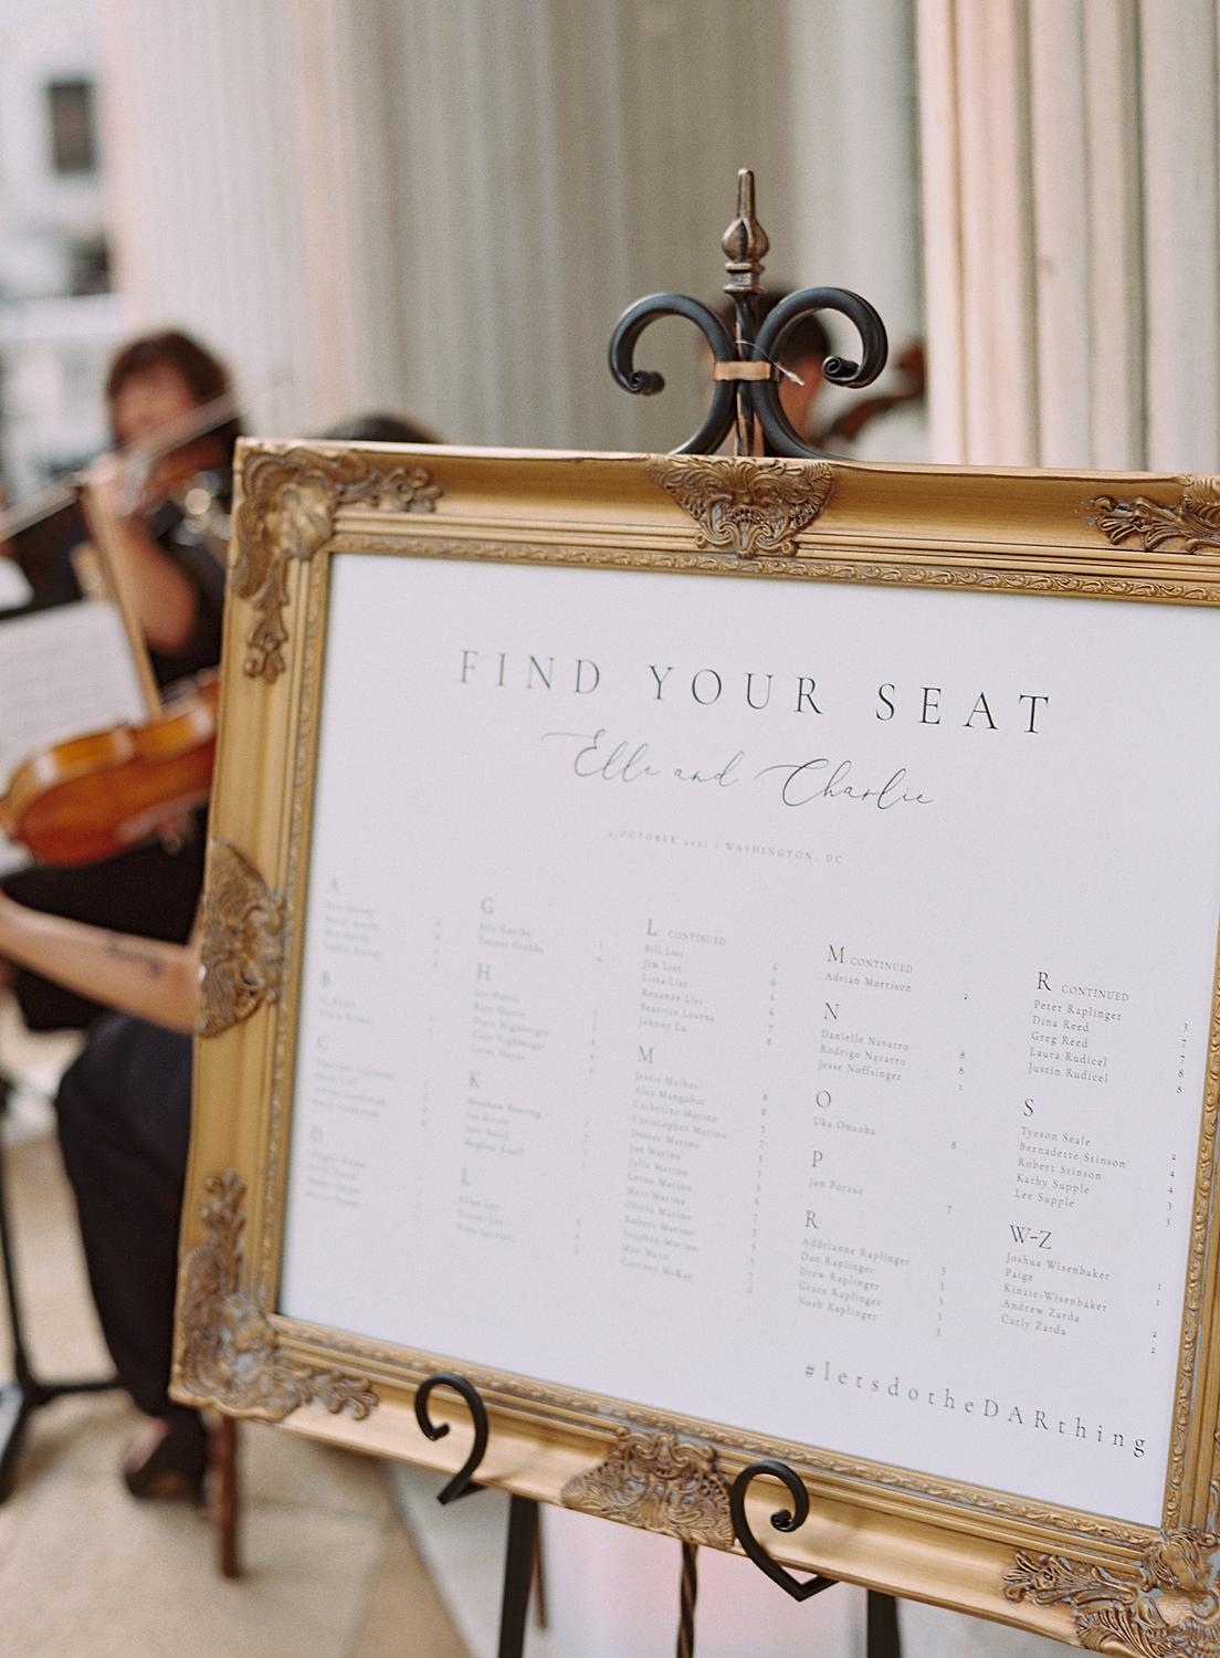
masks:
<svg viewBox="0 0 1220 1658"><path fill-rule="evenodd" d="M285 960L283 897L245 854L211 841L202 909L199 1036L222 1036L280 995Z"/></svg>

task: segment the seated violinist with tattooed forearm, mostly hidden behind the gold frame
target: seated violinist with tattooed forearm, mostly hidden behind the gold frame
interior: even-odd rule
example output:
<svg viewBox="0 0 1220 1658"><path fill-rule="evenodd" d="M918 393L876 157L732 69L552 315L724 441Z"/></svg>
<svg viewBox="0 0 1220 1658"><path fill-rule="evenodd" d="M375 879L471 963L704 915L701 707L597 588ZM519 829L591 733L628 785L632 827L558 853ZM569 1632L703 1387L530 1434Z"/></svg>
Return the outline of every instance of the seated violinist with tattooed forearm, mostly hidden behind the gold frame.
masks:
<svg viewBox="0 0 1220 1658"><path fill-rule="evenodd" d="M434 441L383 414L348 421L327 436ZM118 1010L91 1025L55 1104L103 1336L146 1419L123 1477L138 1497L197 1497L207 1469L204 1423L167 1391L191 1137L197 932L191 928L184 943L141 937L136 924L103 919L88 925L45 914L48 905L18 904L17 895L0 889L0 958L40 975L50 988L63 987L65 995Z"/></svg>

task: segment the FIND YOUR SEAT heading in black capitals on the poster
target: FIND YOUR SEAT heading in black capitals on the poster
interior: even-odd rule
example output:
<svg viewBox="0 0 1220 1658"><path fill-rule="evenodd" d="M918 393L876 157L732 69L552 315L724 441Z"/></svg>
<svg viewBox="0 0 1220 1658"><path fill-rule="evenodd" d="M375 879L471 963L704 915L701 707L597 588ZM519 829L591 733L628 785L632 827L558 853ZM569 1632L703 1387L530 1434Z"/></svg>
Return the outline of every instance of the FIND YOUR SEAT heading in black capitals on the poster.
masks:
<svg viewBox="0 0 1220 1658"><path fill-rule="evenodd" d="M497 690L569 691L592 696L602 683L602 670L590 657L572 657L557 663L555 657L532 657L516 652L462 650L461 685L484 685ZM807 673L782 676L743 670L733 675L718 668L693 673L670 665L645 663L640 685L648 701L693 701L701 708L733 703L762 711L787 706L797 715L824 715L825 696L817 680ZM915 725L960 725L966 731L1003 728L1036 736L1043 730L1049 695L1018 691L998 696L986 690L945 703L940 685L917 685L900 690L882 681L875 691L874 716L882 721L907 718Z"/></svg>

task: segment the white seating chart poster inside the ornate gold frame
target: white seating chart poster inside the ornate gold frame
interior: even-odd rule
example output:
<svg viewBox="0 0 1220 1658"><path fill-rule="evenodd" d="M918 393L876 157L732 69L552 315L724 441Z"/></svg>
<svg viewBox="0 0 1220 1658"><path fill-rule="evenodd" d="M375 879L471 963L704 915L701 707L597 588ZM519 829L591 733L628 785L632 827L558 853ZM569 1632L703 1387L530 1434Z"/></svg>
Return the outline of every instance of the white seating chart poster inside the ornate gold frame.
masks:
<svg viewBox="0 0 1220 1658"><path fill-rule="evenodd" d="M282 1311L1159 1524L1218 633L335 557Z"/></svg>

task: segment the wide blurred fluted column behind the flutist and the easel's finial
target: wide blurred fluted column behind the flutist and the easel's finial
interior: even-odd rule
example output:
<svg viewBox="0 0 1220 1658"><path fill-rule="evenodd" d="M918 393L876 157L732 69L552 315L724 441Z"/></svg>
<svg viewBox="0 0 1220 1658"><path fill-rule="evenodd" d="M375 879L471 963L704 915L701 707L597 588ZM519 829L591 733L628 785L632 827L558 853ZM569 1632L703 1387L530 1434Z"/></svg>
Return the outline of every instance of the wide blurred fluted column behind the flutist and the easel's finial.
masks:
<svg viewBox="0 0 1220 1658"><path fill-rule="evenodd" d="M242 370L262 429L406 410L461 443L670 448L693 330L608 376L641 293L714 298L738 166L791 247L786 12L734 0L106 0L136 325ZM658 340L653 345L653 338Z"/></svg>

